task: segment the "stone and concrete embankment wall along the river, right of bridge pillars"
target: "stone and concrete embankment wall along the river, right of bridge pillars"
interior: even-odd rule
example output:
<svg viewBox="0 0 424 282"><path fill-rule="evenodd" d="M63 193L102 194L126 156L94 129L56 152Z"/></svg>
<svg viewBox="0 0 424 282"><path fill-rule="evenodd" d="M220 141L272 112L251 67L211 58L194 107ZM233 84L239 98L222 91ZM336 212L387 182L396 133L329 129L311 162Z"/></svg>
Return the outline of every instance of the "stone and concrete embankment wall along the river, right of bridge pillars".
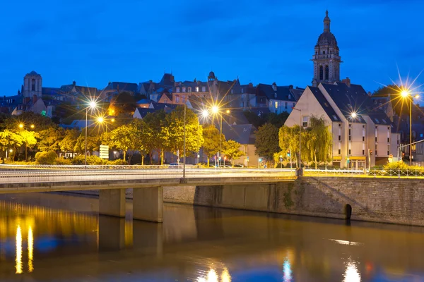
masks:
<svg viewBox="0 0 424 282"><path fill-rule="evenodd" d="M424 226L424 181L312 178L260 185L168 187L165 202Z"/></svg>

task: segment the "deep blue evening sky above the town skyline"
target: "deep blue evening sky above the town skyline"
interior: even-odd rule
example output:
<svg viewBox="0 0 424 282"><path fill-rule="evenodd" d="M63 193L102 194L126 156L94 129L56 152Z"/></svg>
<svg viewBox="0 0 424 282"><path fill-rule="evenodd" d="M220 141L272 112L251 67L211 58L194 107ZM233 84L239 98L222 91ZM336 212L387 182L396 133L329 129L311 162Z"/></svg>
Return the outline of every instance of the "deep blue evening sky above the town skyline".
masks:
<svg viewBox="0 0 424 282"><path fill-rule="evenodd" d="M66 2L66 3L61 3ZM312 81L326 7L341 78L373 91L424 68L420 0L4 1L0 95L37 71L44 87L108 81L220 80L295 85ZM424 79L420 78L424 82Z"/></svg>

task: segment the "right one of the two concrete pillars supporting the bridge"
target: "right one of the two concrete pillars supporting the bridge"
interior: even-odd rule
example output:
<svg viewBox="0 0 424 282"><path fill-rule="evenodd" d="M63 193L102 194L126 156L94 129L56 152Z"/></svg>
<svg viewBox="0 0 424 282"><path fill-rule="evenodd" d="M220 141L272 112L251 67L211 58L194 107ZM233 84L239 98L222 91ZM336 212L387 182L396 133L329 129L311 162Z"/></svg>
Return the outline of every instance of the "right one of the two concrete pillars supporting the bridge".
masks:
<svg viewBox="0 0 424 282"><path fill-rule="evenodd" d="M163 188L134 188L133 219L163 221Z"/></svg>

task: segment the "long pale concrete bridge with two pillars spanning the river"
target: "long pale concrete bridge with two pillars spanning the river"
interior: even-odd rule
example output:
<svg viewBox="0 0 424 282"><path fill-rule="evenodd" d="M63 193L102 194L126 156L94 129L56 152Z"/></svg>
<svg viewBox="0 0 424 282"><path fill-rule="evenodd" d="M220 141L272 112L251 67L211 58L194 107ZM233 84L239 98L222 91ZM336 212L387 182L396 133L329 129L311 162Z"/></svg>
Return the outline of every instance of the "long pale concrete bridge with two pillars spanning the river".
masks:
<svg viewBox="0 0 424 282"><path fill-rule="evenodd" d="M0 194L99 190L99 213L125 216L125 189L133 188L133 219L163 222L163 187L252 185L293 180L294 169L118 169L104 166L0 166Z"/></svg>

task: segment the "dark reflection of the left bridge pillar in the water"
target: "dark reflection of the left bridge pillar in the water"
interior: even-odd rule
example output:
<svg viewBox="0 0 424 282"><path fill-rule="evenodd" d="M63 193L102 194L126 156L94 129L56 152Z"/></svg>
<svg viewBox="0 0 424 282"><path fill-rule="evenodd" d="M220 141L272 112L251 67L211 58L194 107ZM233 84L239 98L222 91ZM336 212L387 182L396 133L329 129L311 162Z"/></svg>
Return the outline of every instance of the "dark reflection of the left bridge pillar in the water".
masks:
<svg viewBox="0 0 424 282"><path fill-rule="evenodd" d="M125 247L125 219L99 216L99 250L114 251Z"/></svg>

